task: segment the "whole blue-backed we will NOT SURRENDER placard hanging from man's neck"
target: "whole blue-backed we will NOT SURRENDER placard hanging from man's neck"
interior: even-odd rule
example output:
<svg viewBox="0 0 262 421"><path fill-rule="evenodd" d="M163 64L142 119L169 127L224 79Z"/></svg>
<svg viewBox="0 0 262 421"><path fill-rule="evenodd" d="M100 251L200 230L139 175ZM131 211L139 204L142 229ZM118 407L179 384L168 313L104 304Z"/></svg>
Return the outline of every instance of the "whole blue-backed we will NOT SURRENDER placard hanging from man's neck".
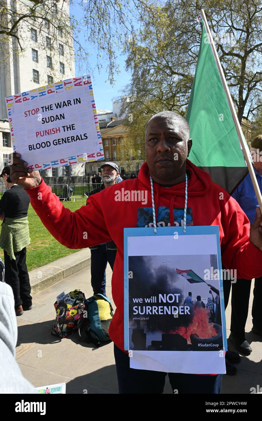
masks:
<svg viewBox="0 0 262 421"><path fill-rule="evenodd" d="M221 271L217 226L124 229L130 368L225 373Z"/></svg>

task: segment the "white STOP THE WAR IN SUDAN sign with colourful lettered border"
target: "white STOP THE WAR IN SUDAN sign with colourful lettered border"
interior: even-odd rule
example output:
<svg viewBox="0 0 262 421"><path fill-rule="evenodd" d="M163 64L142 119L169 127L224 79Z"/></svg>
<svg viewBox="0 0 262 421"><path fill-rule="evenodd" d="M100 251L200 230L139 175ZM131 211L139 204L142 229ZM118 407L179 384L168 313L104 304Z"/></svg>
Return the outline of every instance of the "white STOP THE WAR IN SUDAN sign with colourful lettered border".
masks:
<svg viewBox="0 0 262 421"><path fill-rule="evenodd" d="M5 98L13 150L44 170L104 158L90 75Z"/></svg>

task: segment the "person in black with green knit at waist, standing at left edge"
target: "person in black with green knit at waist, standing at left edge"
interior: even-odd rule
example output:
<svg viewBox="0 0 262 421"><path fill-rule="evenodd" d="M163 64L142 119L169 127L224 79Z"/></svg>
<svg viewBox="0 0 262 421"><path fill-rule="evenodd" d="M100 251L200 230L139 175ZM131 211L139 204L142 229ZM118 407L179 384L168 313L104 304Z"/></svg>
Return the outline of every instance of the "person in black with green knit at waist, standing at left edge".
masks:
<svg viewBox="0 0 262 421"><path fill-rule="evenodd" d="M30 244L27 212L29 196L23 188L10 179L10 167L6 166L3 177L9 190L0 200L0 220L3 221L0 247L4 250L5 282L12 287L16 316L32 308L31 286L26 267L26 247Z"/></svg>

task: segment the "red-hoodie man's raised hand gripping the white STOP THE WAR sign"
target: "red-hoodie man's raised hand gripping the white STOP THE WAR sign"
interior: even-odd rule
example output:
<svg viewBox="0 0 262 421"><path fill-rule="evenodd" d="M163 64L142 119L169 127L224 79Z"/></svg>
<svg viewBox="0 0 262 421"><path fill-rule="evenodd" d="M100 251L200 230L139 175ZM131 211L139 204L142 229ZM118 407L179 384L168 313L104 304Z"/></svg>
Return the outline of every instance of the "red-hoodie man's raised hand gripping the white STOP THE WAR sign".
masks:
<svg viewBox="0 0 262 421"><path fill-rule="evenodd" d="M32 168L27 168L27 162L21 159L19 153L11 154L10 160L13 163L10 169L10 178L13 183L24 187L24 189L39 186L42 180L39 171L32 171Z"/></svg>

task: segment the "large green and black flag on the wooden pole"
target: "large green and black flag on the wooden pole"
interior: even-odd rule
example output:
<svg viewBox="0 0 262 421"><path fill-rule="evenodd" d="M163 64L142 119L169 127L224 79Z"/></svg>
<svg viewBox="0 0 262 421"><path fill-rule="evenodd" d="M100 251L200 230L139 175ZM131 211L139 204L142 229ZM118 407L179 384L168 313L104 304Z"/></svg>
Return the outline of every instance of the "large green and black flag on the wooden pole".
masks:
<svg viewBox="0 0 262 421"><path fill-rule="evenodd" d="M193 140L189 159L231 193L247 167L203 22L186 120Z"/></svg>

